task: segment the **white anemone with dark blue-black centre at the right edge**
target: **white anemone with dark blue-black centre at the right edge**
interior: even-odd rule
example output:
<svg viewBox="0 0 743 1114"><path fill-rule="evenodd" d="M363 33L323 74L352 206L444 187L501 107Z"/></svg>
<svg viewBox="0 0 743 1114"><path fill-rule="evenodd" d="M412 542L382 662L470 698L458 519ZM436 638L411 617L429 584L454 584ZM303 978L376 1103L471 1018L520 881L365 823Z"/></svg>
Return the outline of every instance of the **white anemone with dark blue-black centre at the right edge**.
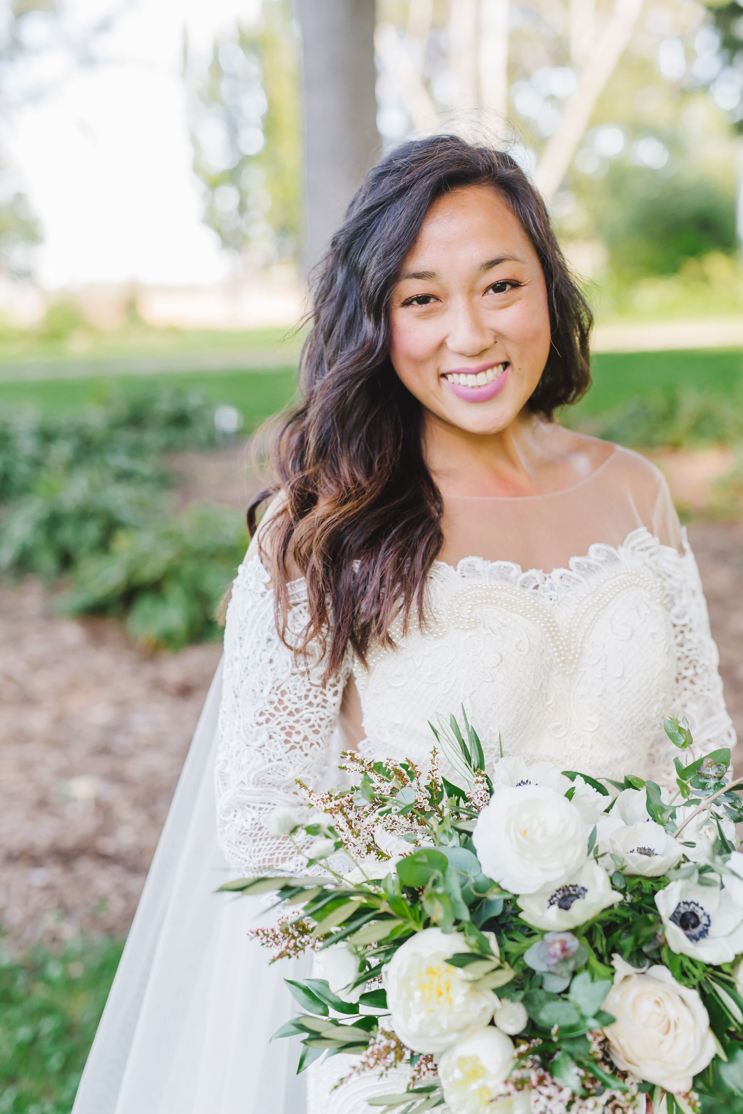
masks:
<svg viewBox="0 0 743 1114"><path fill-rule="evenodd" d="M655 905L672 951L715 965L731 962L743 951L743 909L727 890L671 882L655 895Z"/></svg>

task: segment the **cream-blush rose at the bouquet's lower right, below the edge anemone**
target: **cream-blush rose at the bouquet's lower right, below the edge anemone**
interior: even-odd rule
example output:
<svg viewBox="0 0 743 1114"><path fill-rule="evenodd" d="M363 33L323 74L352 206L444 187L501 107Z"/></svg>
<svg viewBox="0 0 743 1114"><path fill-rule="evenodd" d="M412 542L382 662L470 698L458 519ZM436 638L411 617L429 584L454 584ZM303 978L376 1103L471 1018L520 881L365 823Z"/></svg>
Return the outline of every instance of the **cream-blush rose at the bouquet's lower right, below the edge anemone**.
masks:
<svg viewBox="0 0 743 1114"><path fill-rule="evenodd" d="M615 1018L604 1029L612 1059L666 1091L690 1091L716 1052L699 994L676 983L667 967L641 973L618 956L614 967L614 986L602 1007Z"/></svg>

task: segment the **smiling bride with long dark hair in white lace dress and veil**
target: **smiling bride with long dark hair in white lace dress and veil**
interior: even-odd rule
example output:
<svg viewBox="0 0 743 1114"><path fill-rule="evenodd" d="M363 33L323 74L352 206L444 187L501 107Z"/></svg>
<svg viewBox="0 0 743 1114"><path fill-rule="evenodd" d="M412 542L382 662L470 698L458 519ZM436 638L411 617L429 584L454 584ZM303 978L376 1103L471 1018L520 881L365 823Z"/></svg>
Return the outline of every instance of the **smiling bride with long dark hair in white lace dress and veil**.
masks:
<svg viewBox="0 0 743 1114"><path fill-rule="evenodd" d="M300 807L296 778L337 782L340 736L422 762L427 721L464 702L488 761L501 737L666 784L664 715L701 752L733 744L663 477L554 421L588 387L590 325L508 155L439 136L367 175L75 1114L365 1114L400 1089L334 1091L343 1056L296 1076L291 1042L268 1040L293 1013L283 977L309 973L247 939L261 899L211 895L228 869L301 869L270 813Z"/></svg>

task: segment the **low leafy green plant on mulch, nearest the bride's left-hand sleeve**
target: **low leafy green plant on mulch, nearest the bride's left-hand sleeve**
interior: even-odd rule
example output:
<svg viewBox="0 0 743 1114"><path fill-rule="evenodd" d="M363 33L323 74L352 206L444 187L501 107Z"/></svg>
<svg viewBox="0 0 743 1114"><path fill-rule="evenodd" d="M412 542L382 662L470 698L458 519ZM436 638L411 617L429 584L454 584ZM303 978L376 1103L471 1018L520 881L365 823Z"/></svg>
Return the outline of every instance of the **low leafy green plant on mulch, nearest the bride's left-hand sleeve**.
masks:
<svg viewBox="0 0 743 1114"><path fill-rule="evenodd" d="M245 549L245 527L232 512L195 507L152 518L119 530L106 551L83 559L60 606L126 616L140 645L180 649L217 636L217 606Z"/></svg>

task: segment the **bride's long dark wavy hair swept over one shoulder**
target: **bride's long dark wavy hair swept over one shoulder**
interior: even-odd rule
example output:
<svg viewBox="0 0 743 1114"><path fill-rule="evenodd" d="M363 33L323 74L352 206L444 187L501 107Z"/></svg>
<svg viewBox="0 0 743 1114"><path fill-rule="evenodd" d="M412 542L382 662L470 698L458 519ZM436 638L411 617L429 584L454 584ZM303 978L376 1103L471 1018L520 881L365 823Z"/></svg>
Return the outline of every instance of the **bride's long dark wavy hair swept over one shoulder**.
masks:
<svg viewBox="0 0 743 1114"><path fill-rule="evenodd" d="M504 152L454 135L397 147L367 174L317 268L311 330L300 361L301 401L275 436L276 483L255 499L281 501L261 529L270 554L277 626L286 637L290 568L307 583L309 622L298 652L319 639L326 680L348 645L390 643L413 607L425 620L425 584L443 545L442 496L422 447L420 403L389 360L389 300L432 204L488 185L509 205L542 263L552 345L529 405L552 418L591 382L591 310L572 278L534 186Z"/></svg>

